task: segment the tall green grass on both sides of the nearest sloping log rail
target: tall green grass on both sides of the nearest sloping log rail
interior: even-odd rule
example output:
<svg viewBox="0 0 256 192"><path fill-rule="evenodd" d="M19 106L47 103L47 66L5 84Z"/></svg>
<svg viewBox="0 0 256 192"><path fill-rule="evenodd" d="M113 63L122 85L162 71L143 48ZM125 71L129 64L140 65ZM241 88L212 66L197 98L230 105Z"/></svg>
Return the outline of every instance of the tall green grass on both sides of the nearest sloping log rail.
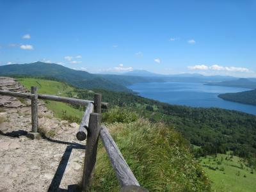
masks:
<svg viewBox="0 0 256 192"><path fill-rule="evenodd" d="M135 177L149 191L211 190L209 180L189 152L187 141L173 127L141 118L108 127ZM102 144L95 171L92 191L120 190Z"/></svg>

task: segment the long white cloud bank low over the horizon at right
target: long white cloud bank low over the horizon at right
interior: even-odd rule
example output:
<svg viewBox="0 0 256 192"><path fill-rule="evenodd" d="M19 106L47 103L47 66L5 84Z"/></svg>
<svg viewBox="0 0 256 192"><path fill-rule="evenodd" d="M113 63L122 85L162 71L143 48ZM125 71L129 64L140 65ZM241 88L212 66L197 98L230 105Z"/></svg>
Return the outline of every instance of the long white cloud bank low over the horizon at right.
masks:
<svg viewBox="0 0 256 192"><path fill-rule="evenodd" d="M245 67L223 67L220 65L195 65L188 67L190 70L218 70L218 71L228 71L228 72L251 72L248 68Z"/></svg>

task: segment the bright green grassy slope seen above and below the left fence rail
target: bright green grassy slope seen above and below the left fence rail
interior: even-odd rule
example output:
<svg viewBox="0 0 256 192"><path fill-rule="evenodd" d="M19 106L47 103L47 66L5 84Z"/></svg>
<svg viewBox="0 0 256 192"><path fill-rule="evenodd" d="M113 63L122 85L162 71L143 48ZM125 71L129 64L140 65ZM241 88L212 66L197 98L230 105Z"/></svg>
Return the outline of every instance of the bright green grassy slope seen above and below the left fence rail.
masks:
<svg viewBox="0 0 256 192"><path fill-rule="evenodd" d="M21 78L18 81L23 84L28 90L31 86L38 87L38 93L44 93L49 95L60 95L67 97L67 92L74 90L71 86L66 83L61 83L57 81L49 81L44 79L33 79L33 78ZM67 116L74 116L75 118L81 118L83 116L83 111L73 108L72 106L65 104L63 102L56 102L47 100L47 108L51 109L54 116L58 118L63 117L63 111L66 111Z"/></svg>

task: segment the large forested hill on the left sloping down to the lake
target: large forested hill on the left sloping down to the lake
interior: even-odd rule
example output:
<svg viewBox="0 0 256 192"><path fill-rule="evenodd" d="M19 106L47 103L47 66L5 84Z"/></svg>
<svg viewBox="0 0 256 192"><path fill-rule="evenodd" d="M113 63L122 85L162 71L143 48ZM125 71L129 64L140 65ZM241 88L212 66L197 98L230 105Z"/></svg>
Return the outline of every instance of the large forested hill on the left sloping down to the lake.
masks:
<svg viewBox="0 0 256 192"><path fill-rule="evenodd" d="M79 88L102 88L118 92L131 92L124 86L120 78L108 78L100 75L90 74L81 70L73 70L54 63L29 63L0 66L0 76L14 77L44 77L65 81ZM136 79L140 81L140 79ZM141 79L141 81L143 81Z"/></svg>

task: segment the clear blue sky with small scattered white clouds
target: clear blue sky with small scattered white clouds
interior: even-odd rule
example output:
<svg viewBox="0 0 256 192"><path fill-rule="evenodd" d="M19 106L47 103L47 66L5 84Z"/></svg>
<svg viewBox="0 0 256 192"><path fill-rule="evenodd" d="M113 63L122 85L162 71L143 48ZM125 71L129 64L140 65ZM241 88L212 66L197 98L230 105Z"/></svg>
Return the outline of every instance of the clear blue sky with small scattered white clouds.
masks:
<svg viewBox="0 0 256 192"><path fill-rule="evenodd" d="M0 65L256 77L256 1L0 1Z"/></svg>

